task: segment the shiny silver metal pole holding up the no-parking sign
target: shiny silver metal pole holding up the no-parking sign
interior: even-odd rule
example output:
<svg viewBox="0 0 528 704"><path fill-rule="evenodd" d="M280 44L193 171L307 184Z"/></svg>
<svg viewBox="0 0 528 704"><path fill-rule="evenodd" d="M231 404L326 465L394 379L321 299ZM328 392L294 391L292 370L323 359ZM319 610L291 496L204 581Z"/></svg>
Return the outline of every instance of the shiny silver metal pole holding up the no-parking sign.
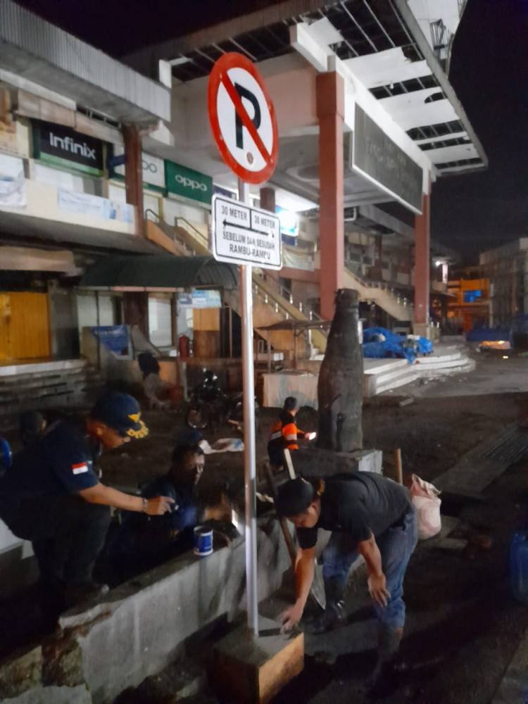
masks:
<svg viewBox="0 0 528 704"><path fill-rule="evenodd" d="M249 185L239 179L239 201L249 205ZM257 505L255 451L255 379L253 377L253 277L251 265L240 267L242 372L244 391L244 477L246 487L246 593L248 628L258 636Z"/></svg>

